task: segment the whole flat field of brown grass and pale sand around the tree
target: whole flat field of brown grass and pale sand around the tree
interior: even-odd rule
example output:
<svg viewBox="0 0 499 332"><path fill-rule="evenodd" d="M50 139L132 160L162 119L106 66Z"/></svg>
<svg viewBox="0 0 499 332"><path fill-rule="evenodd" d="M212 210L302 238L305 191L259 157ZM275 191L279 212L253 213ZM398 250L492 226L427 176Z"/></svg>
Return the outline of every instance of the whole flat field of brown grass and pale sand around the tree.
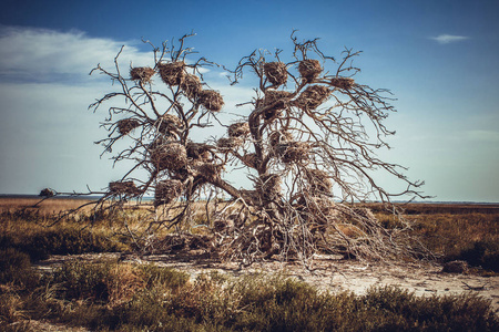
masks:
<svg viewBox="0 0 499 332"><path fill-rule="evenodd" d="M317 256L242 268L193 249L141 256L120 220L82 200L0 199L0 329L7 331L375 331L499 329L499 206L406 206L434 261ZM150 207L150 206L149 206ZM146 209L128 209L140 228ZM379 222L397 218L370 205ZM200 209L202 210L202 209ZM89 225L91 227L89 227ZM442 273L441 263L470 269Z"/></svg>

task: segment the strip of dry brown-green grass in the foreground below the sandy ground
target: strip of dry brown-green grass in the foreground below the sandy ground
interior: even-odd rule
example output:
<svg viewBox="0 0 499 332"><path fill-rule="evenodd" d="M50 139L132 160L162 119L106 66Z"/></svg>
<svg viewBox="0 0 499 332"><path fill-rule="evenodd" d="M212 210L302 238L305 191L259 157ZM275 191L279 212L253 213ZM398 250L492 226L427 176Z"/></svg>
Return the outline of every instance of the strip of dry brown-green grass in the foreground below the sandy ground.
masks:
<svg viewBox="0 0 499 332"><path fill-rule="evenodd" d="M479 297L398 288L332 294L281 276L187 274L152 264L67 262L40 286L0 293L1 328L48 319L92 331L496 331Z"/></svg>

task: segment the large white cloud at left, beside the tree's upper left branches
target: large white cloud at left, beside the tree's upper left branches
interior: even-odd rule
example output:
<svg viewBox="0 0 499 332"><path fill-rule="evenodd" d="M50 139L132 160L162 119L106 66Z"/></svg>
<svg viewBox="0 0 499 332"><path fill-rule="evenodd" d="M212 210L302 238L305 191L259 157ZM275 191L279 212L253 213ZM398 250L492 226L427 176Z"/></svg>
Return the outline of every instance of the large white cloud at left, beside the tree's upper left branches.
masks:
<svg viewBox="0 0 499 332"><path fill-rule="evenodd" d="M32 28L0 29L0 75L3 81L58 81L88 75L98 64L112 70L122 45L120 64L151 65L151 52L136 42L90 38L80 31L60 32Z"/></svg>

